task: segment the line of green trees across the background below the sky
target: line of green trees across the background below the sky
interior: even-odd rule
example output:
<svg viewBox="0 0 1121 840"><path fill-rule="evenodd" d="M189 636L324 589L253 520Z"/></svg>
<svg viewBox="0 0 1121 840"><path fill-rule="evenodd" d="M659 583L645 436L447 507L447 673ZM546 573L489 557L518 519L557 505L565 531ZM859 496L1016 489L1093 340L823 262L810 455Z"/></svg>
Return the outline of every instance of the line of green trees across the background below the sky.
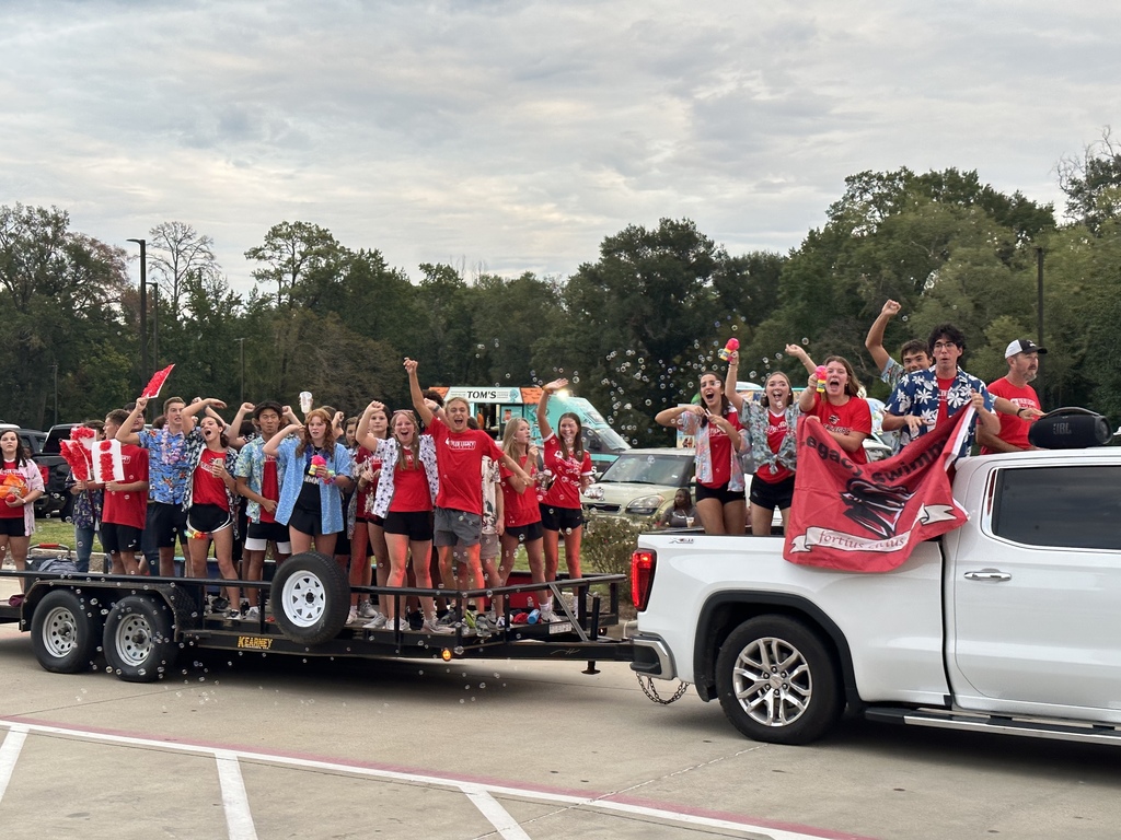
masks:
<svg viewBox="0 0 1121 840"><path fill-rule="evenodd" d="M281 222L245 252L254 288L235 293L213 241L183 222L148 234L148 355L176 364L176 394L316 402L356 413L371 396L407 404L401 360L426 384L529 385L567 376L634 444L668 442L652 417L687 401L728 338L741 375L762 383L786 344L846 356L886 396L863 347L888 298L901 302L893 351L943 321L967 339L964 366L1003 375L1003 348L1036 336L1044 262L1045 408L1121 416L1121 149L1106 131L1064 159L1067 205L982 184L975 171L860 172L825 224L789 253L730 254L689 220L630 225L567 278L419 276L308 222ZM43 428L135 399L140 297L119 246L71 230L56 207L0 207L0 324L8 383L0 420ZM243 360L243 362L242 362Z"/></svg>

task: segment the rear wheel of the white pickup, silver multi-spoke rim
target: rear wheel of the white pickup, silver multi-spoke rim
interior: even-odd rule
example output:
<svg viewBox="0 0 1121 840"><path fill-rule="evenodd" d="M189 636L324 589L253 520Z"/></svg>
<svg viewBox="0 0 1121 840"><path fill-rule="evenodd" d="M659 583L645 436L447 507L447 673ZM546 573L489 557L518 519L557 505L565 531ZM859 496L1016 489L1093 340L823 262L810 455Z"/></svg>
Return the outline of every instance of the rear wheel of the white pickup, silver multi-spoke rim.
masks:
<svg viewBox="0 0 1121 840"><path fill-rule="evenodd" d="M837 668L821 638L780 615L744 622L721 645L716 691L732 725L770 744L808 744L844 708Z"/></svg>

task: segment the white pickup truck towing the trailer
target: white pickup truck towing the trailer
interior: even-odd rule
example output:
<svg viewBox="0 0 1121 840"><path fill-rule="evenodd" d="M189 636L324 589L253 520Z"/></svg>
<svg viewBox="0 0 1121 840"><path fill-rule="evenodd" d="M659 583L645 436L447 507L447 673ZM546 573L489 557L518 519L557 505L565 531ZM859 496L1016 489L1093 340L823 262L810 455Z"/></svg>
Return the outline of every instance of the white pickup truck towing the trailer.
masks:
<svg viewBox="0 0 1121 840"><path fill-rule="evenodd" d="M1121 744L1121 448L966 458L954 496L970 521L882 573L789 563L778 536L643 534L631 668L763 741L847 707Z"/></svg>

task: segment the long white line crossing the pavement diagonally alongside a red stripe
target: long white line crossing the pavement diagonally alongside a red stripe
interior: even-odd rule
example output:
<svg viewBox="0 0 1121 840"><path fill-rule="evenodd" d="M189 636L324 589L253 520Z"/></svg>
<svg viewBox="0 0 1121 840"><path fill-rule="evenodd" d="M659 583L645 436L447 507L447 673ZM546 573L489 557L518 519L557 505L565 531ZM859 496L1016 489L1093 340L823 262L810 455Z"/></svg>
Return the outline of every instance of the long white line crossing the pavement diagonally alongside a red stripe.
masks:
<svg viewBox="0 0 1121 840"><path fill-rule="evenodd" d="M736 831L748 834L761 834L772 840L823 840L823 838L851 837L834 831L822 831L815 833L800 832L791 829L780 829L773 825L757 825L736 820L724 820L715 816L702 816L698 814L683 813L679 811L668 811L646 805L636 805L629 802L617 802L606 797L593 799L589 796L575 796L572 794L553 793L548 791L535 791L531 787L511 787L501 784L480 784L478 782L464 782L462 780L443 776L430 776L420 773L406 773L404 771L381 769L377 767L365 767L362 765L342 764L337 762L324 762L314 758L297 758L286 755L274 755L270 753L250 753L243 750L221 749L219 747L206 747L197 744L182 744L170 740L156 740L152 738L138 738L127 735L111 735L109 732L86 731L84 729L67 729L65 727L46 726L44 724L24 724L0 719L0 726L7 726L22 731L41 732L44 735L58 735L66 738L82 738L84 740L103 741L108 744L122 744L136 747L152 749L165 749L192 755L230 756L239 760L260 762L262 764L282 765L288 767L300 767L306 769L322 769L331 773L349 773L355 776L368 776L370 778L385 778L399 782L411 782L434 787L445 787L458 790L466 794L469 791L487 792L503 796L548 802L563 805L574 805L587 808L590 810L609 811L619 814L630 814L634 816L648 816L668 822L685 823L691 827L721 829L724 831ZM11 738L11 735L8 736ZM240 776L240 772L239 772ZM611 795L611 794L608 794ZM474 801L474 800L472 800ZM497 803L495 803L497 804ZM478 803L476 803L478 806ZM233 834L231 834L233 837ZM253 836L256 837L256 834Z"/></svg>

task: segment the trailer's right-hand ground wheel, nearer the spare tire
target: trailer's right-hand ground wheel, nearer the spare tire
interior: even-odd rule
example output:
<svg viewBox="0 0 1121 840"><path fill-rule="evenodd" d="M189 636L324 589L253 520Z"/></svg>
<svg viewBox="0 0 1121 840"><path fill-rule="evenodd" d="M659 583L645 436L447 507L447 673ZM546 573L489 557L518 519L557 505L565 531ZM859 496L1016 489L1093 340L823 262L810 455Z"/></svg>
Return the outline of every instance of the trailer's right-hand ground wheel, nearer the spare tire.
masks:
<svg viewBox="0 0 1121 840"><path fill-rule="evenodd" d="M121 598L105 618L103 647L111 673L124 682L155 682L179 650L170 607L142 595Z"/></svg>

